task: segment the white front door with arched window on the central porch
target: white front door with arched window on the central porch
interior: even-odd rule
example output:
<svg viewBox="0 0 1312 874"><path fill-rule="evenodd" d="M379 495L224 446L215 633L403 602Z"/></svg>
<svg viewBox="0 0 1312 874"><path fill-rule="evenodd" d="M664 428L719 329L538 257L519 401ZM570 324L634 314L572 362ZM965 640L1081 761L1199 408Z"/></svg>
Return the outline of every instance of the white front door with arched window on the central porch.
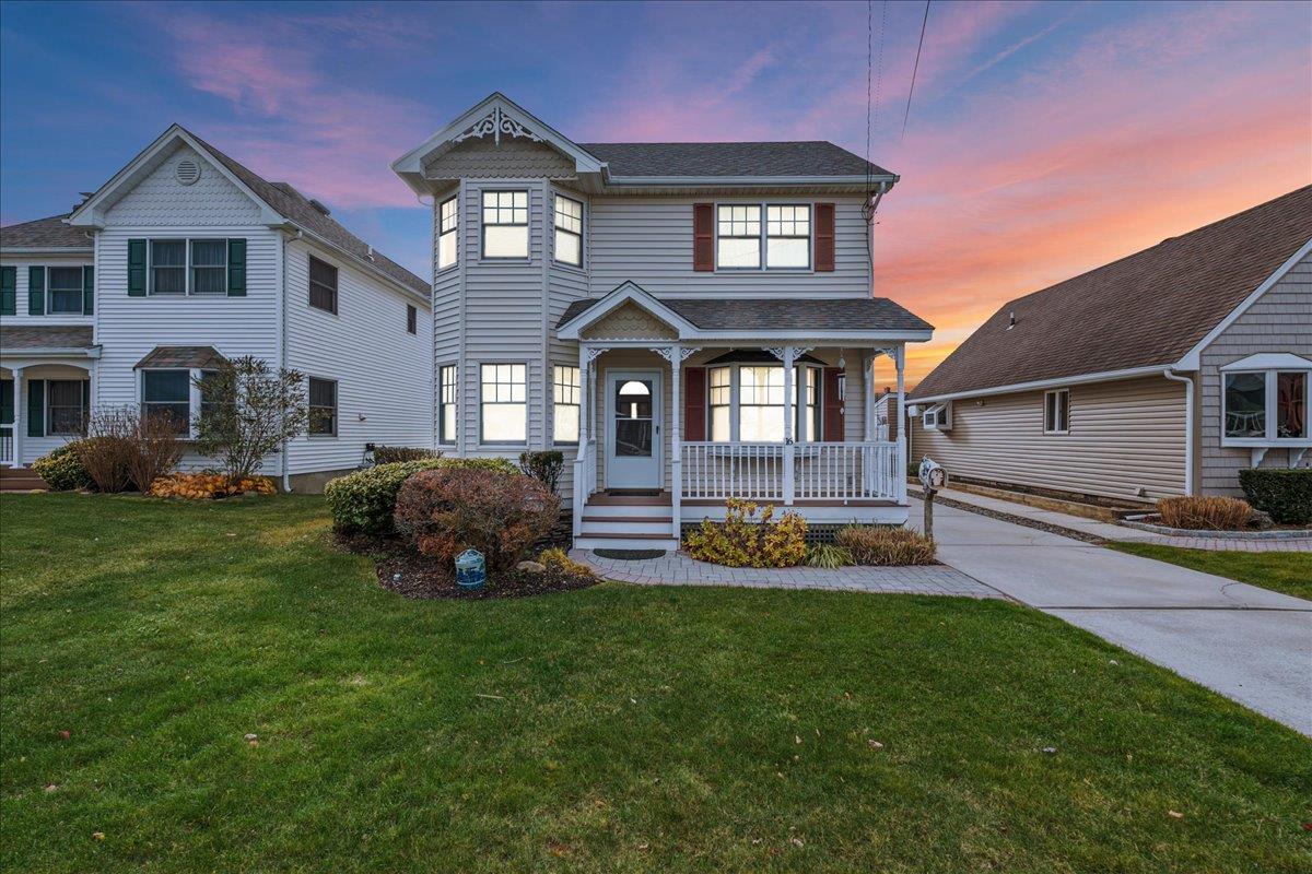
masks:
<svg viewBox="0 0 1312 874"><path fill-rule="evenodd" d="M660 489L660 371L606 371L606 487Z"/></svg>

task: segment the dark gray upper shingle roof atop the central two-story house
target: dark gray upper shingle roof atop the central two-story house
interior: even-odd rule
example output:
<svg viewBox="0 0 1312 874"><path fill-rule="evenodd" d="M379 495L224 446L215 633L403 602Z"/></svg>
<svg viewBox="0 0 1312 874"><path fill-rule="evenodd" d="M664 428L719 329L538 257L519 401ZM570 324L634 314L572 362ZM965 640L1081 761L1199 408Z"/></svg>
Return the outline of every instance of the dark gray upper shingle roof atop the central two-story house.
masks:
<svg viewBox="0 0 1312 874"><path fill-rule="evenodd" d="M781 143L580 143L611 176L886 176L825 140Z"/></svg>

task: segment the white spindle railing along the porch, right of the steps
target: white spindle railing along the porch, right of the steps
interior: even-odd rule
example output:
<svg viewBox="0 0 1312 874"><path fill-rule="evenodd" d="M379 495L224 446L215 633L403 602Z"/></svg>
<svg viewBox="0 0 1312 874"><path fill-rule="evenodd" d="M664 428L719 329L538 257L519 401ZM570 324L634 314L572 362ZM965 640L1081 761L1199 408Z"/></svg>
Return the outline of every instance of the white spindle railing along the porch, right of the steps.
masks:
<svg viewBox="0 0 1312 874"><path fill-rule="evenodd" d="M684 443L682 451L684 499L896 501L900 494L896 443Z"/></svg>

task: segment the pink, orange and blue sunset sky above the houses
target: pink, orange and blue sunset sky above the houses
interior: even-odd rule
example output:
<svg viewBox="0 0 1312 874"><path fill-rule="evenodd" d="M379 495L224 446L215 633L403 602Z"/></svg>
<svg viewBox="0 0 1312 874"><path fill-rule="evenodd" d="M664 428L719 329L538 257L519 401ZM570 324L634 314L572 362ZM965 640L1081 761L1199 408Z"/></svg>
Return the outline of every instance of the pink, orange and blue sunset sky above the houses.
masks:
<svg viewBox="0 0 1312 874"><path fill-rule="evenodd" d="M874 4L875 287L937 326L912 381L1002 301L1312 181L1312 4L934 1L903 136L922 14ZM3 3L0 220L180 122L426 275L388 164L492 90L580 142L863 153L866 4Z"/></svg>

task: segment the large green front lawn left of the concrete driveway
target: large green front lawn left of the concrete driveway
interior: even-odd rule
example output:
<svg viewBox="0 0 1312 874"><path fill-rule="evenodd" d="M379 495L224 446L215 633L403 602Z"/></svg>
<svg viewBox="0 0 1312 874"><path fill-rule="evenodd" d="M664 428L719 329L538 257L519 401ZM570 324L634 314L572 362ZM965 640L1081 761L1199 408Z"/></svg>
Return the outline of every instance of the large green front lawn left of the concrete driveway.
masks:
<svg viewBox="0 0 1312 874"><path fill-rule="evenodd" d="M3 870L1312 864L1307 739L1014 604L408 601L314 498L0 518Z"/></svg>

